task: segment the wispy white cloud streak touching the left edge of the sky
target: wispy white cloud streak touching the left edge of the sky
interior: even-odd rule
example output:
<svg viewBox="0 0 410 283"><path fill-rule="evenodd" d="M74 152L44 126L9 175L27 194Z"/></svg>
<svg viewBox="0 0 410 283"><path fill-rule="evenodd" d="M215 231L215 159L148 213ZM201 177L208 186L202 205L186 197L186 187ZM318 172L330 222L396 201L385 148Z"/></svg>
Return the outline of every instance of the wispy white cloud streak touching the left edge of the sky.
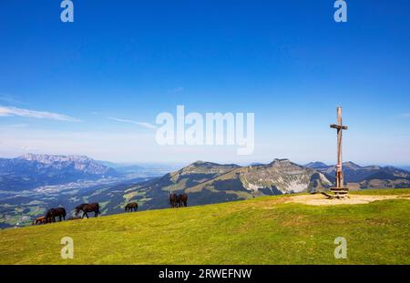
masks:
<svg viewBox="0 0 410 283"><path fill-rule="evenodd" d="M37 119L51 119L57 121L80 122L79 119L64 114L36 111L13 106L0 106L0 116L24 116Z"/></svg>

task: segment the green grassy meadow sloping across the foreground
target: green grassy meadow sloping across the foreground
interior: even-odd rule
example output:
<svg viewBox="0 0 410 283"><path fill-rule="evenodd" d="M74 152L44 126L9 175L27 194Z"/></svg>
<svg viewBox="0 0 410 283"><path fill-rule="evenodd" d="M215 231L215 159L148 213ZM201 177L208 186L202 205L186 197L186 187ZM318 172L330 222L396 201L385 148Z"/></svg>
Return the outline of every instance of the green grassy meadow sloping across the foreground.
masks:
<svg viewBox="0 0 410 283"><path fill-rule="evenodd" d="M314 207L287 197L9 228L0 264L410 264L410 200ZM333 256L339 236L347 259ZM73 259L60 257L63 237L74 239Z"/></svg>

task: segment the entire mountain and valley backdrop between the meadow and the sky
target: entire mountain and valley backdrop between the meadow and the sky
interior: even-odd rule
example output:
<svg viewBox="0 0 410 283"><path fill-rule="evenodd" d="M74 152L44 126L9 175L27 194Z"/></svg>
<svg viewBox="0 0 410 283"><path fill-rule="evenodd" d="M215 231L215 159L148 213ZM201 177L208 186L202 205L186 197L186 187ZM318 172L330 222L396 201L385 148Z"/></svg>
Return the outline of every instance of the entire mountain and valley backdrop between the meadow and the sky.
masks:
<svg viewBox="0 0 410 283"><path fill-rule="evenodd" d="M192 206L322 191L334 182L334 166L322 162L301 166L288 159L245 167L197 161L167 174L163 170L83 156L0 159L0 227L27 225L48 207L63 206L69 213L83 202L98 202L103 214L115 214L130 201L137 201L140 210L169 207L171 192L188 194ZM346 162L343 170L351 189L410 187L410 172L404 169ZM128 174L133 178L125 177Z"/></svg>

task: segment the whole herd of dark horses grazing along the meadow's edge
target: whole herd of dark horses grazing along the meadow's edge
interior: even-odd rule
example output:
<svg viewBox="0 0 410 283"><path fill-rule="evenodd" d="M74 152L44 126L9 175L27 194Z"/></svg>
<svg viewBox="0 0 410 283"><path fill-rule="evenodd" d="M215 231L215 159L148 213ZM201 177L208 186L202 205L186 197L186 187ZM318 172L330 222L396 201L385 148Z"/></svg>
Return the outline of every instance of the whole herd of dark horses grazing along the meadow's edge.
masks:
<svg viewBox="0 0 410 283"><path fill-rule="evenodd" d="M172 208L175 207L187 207L188 205L188 196L187 194L170 194L169 195L169 205ZM68 220L76 220L82 219L84 217L88 218L88 213L94 212L94 217L98 217L99 212L99 204L92 203L92 204L81 204L77 206L75 209L75 217L69 217ZM125 212L132 212L138 210L138 203L137 202L130 202L124 207ZM82 216L79 217L79 213L82 212ZM42 217L37 217L33 221L33 225L39 224L46 224L46 223L53 223L56 222L56 217L59 221L66 220L66 209L64 207L56 207L50 208L46 211L46 214Z"/></svg>

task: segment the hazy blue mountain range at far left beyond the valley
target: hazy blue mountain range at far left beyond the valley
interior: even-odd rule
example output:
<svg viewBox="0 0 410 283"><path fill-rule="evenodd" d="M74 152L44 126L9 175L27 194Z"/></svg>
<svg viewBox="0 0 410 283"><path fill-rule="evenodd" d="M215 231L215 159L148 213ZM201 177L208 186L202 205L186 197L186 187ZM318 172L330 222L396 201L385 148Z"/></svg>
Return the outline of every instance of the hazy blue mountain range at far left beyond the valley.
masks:
<svg viewBox="0 0 410 283"><path fill-rule="evenodd" d="M65 185L76 182L109 182L116 178L159 177L172 166L120 165L85 156L52 156L27 154L0 158L0 191L22 191L37 187Z"/></svg>

